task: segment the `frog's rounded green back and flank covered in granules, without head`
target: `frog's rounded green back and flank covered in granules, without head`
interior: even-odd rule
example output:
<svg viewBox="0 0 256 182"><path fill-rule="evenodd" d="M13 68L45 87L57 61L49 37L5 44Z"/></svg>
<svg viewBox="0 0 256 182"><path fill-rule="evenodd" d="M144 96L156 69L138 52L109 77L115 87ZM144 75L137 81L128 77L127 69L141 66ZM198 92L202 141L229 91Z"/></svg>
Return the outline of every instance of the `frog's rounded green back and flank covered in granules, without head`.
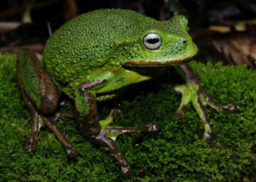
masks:
<svg viewBox="0 0 256 182"><path fill-rule="evenodd" d="M117 42L134 39L156 20L131 10L82 14L56 30L43 52L47 70L60 82L88 75L114 56Z"/></svg>

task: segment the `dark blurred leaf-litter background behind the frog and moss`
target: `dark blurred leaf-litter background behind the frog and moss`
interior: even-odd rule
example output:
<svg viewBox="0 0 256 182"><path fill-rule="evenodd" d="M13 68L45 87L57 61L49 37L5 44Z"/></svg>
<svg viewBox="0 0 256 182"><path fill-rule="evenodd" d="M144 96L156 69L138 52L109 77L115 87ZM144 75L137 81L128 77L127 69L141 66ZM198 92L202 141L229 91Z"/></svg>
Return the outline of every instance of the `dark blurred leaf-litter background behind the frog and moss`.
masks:
<svg viewBox="0 0 256 182"><path fill-rule="evenodd" d="M47 23L54 32L69 19L102 8L131 9L157 20L185 15L190 21L190 35L199 47L198 61L247 64L255 69L256 0L3 0L0 52L17 53L29 46L41 54L49 37ZM20 23L26 11L31 15L31 24L18 24L18 28L7 25ZM243 31L234 28L238 21L245 24ZM213 31L209 26L217 27ZM223 28L229 31L221 33Z"/></svg>

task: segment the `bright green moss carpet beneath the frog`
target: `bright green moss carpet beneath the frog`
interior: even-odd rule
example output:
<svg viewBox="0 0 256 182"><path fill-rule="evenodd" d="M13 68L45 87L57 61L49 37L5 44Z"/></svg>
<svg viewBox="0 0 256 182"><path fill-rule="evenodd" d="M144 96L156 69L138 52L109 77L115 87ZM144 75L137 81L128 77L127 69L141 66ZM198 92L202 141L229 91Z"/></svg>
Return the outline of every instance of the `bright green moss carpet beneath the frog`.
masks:
<svg viewBox="0 0 256 182"><path fill-rule="evenodd" d="M26 152L31 123L22 125L30 113L18 88L16 57L1 55L0 181L256 181L256 71L195 61L190 66L219 104L235 102L239 110L217 112L207 107L215 132L214 141L207 143L201 139L203 125L193 107L187 107L184 119L176 118L181 95L155 84L175 80L171 71L138 84L117 99L99 103L101 118L114 107L122 109L112 125L160 125L158 133L117 138L134 170L130 177L123 177L110 152L83 137L72 119L58 119L57 125L79 150L77 157L67 158L48 128L41 128L36 151ZM62 109L72 111L72 107ZM145 177L140 173L143 169Z"/></svg>

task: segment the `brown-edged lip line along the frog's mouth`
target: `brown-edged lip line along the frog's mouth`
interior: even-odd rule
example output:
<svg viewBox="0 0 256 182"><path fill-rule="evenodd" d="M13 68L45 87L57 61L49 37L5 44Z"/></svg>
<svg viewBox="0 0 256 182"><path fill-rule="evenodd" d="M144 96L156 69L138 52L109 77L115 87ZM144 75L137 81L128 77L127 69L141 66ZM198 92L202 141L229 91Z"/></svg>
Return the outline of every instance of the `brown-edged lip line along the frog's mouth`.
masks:
<svg viewBox="0 0 256 182"><path fill-rule="evenodd" d="M126 61L124 65L126 66L173 66L177 64L184 64L192 60L195 56L186 57L182 60L157 60L157 61L148 61L148 60L140 60L140 61Z"/></svg>

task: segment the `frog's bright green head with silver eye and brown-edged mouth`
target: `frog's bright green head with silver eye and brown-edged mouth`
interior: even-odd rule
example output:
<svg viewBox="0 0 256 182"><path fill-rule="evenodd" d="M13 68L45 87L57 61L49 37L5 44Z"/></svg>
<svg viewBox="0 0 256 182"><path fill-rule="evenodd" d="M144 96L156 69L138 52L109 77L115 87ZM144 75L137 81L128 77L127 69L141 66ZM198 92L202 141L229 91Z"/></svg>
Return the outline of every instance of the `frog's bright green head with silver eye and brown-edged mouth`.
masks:
<svg viewBox="0 0 256 182"><path fill-rule="evenodd" d="M197 54L197 46L188 34L189 22L184 16L157 21L129 47L125 66L168 66L190 61Z"/></svg>

